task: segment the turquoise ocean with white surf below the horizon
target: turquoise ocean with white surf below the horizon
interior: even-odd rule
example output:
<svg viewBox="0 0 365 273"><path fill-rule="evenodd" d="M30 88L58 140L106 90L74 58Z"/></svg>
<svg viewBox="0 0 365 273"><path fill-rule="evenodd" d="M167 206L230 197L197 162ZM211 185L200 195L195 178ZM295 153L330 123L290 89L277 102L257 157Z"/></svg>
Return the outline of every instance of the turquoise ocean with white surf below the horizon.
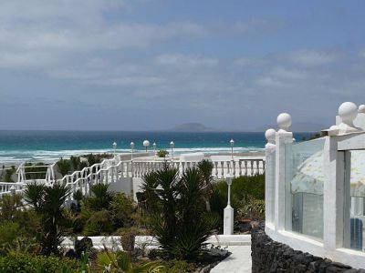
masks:
<svg viewBox="0 0 365 273"><path fill-rule="evenodd" d="M297 140L313 133L294 134ZM157 144L157 150L169 149L174 142L174 154L189 152L228 152L229 141L235 140L235 152L263 150L266 145L264 133L245 132L124 132L124 131L0 131L0 165L17 164L22 161L50 162L60 157L87 153L112 153L112 143L117 152L130 152L130 142L135 151L143 151L143 140Z"/></svg>

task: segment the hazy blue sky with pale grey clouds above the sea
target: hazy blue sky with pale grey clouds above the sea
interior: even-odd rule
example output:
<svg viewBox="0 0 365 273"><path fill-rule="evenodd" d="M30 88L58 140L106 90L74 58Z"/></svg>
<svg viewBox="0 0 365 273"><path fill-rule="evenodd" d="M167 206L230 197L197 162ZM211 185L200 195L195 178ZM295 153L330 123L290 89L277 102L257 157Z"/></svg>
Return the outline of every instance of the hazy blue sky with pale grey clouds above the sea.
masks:
<svg viewBox="0 0 365 273"><path fill-rule="evenodd" d="M1 0L0 129L245 131L365 104L364 1Z"/></svg>

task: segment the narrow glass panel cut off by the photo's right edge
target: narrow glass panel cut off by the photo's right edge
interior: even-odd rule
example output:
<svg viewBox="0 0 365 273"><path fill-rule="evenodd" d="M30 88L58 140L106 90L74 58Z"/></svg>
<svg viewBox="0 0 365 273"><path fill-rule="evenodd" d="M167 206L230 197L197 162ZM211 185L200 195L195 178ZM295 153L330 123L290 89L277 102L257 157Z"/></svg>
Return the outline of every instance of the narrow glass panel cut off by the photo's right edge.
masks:
<svg viewBox="0 0 365 273"><path fill-rule="evenodd" d="M365 150L346 152L344 245L365 252Z"/></svg>

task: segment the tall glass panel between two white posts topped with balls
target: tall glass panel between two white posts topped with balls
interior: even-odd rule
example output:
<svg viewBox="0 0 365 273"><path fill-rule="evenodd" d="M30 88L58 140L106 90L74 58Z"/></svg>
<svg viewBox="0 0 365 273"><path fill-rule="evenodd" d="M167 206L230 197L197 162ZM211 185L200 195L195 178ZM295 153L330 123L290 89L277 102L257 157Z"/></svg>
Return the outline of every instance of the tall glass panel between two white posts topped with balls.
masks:
<svg viewBox="0 0 365 273"><path fill-rule="evenodd" d="M286 146L286 229L323 238L325 139Z"/></svg>

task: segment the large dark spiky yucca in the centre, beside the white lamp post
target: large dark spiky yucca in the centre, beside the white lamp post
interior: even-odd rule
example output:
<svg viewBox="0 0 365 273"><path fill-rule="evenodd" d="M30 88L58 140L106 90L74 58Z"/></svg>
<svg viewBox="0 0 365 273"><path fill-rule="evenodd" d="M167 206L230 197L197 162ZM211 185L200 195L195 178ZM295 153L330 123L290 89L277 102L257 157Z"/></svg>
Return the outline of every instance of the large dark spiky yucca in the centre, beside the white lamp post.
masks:
<svg viewBox="0 0 365 273"><path fill-rule="evenodd" d="M191 168L179 177L177 169L165 167L143 179L143 188L149 192L147 200L155 207L151 229L164 255L183 259L199 257L204 241L212 234L203 217L205 184L200 172Z"/></svg>

